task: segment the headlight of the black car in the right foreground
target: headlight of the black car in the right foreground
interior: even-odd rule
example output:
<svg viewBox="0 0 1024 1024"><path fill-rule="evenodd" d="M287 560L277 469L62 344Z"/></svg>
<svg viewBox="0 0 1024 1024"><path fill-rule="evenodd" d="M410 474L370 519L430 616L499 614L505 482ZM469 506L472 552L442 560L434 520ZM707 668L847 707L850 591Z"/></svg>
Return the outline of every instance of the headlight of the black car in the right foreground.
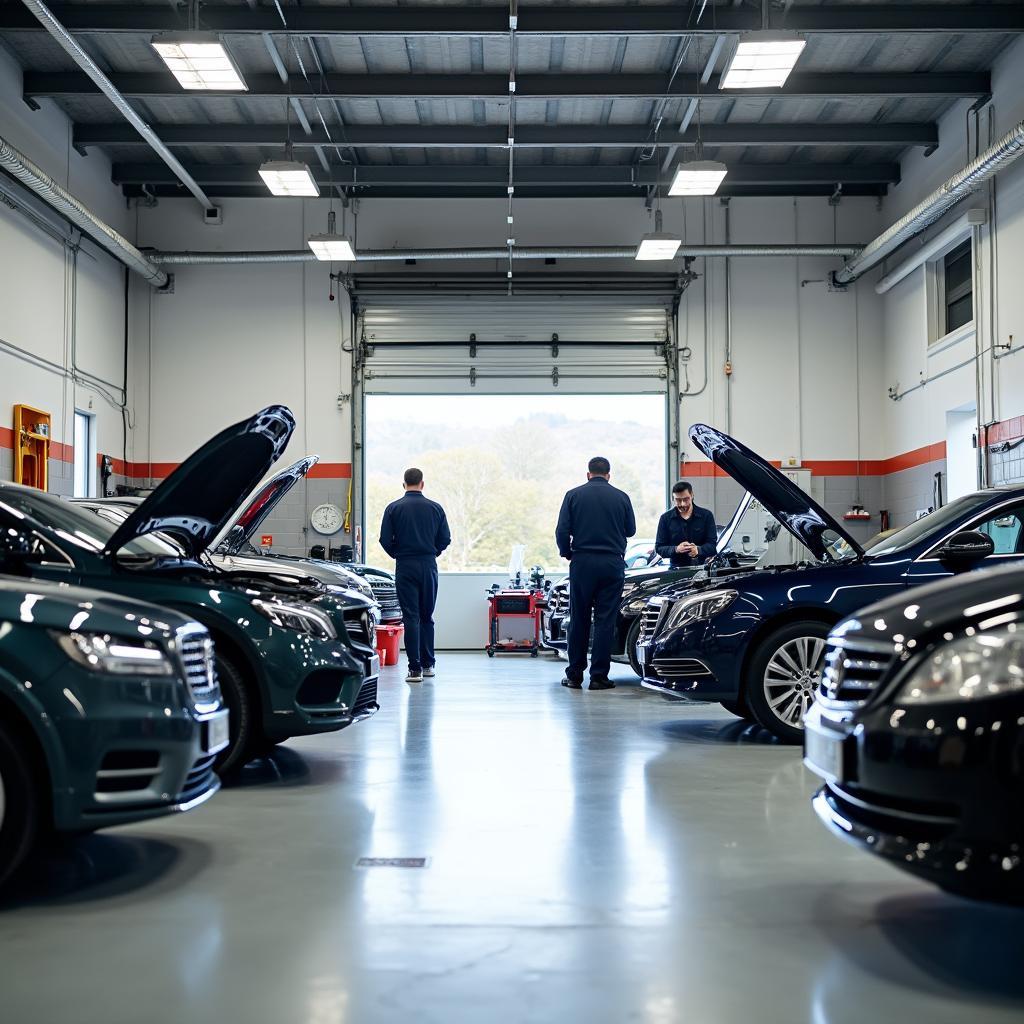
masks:
<svg viewBox="0 0 1024 1024"><path fill-rule="evenodd" d="M901 705L984 700L1024 690L1024 628L1010 625L944 643L897 695Z"/></svg>

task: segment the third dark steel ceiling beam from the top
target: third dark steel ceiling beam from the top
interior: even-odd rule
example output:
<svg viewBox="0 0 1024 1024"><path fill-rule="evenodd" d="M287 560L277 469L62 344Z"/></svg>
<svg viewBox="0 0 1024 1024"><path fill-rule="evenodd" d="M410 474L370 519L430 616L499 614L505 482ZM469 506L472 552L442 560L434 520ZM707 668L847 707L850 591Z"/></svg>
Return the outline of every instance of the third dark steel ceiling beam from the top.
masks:
<svg viewBox="0 0 1024 1024"><path fill-rule="evenodd" d="M265 125L156 125L155 131L170 145L201 146L280 146L285 126ZM410 148L506 148L505 125L474 127L460 125L346 126L345 144L367 148L386 146ZM866 145L933 146L939 143L935 124L727 124L706 125L701 139L708 146L746 145ZM647 124L636 125L522 125L516 129L516 148L599 148L614 146L692 145L696 129L685 132L663 131L656 140L649 137ZM295 148L324 146L330 139L323 128L310 128L306 137L292 139ZM76 124L76 148L91 145L141 144L138 135L124 124Z"/></svg>

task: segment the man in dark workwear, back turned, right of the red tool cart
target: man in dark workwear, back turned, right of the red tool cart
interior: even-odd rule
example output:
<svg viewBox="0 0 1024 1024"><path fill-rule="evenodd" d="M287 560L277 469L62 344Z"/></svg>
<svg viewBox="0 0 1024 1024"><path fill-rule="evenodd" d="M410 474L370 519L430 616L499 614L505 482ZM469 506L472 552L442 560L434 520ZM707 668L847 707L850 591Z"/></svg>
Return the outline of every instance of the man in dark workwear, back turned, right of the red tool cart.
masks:
<svg viewBox="0 0 1024 1024"><path fill-rule="evenodd" d="M623 556L637 524L630 496L608 482L608 460L591 459L587 469L587 482L565 493L555 528L558 553L569 560L569 664L562 686L583 686L593 614L590 689L610 690L615 685L608 679L611 641L626 575Z"/></svg>

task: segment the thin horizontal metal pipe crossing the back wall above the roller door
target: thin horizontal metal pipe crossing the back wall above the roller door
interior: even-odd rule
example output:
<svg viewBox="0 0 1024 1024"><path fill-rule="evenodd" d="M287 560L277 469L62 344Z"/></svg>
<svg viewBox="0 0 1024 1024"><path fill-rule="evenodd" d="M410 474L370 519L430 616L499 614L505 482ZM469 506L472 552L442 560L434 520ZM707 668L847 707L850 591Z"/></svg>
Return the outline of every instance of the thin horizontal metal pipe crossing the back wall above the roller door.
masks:
<svg viewBox="0 0 1024 1024"><path fill-rule="evenodd" d="M860 246L681 246L679 257L715 256L854 256ZM633 259L636 246L516 246L516 259ZM507 248L494 249L360 249L355 254L359 263L402 262L422 260L506 259ZM255 252L155 252L154 263L170 265L202 265L209 263L314 263L316 257L308 249L268 249Z"/></svg>

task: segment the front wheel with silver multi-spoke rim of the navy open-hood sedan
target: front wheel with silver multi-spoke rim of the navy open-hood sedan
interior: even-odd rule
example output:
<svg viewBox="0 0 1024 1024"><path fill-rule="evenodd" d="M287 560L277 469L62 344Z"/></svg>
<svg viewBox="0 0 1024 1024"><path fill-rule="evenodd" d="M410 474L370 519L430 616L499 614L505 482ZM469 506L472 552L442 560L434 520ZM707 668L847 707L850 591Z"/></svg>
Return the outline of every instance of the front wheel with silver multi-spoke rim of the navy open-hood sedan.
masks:
<svg viewBox="0 0 1024 1024"><path fill-rule="evenodd" d="M755 721L783 742L803 739L804 712L814 699L827 636L824 623L788 623L761 641L751 662L746 703Z"/></svg>

